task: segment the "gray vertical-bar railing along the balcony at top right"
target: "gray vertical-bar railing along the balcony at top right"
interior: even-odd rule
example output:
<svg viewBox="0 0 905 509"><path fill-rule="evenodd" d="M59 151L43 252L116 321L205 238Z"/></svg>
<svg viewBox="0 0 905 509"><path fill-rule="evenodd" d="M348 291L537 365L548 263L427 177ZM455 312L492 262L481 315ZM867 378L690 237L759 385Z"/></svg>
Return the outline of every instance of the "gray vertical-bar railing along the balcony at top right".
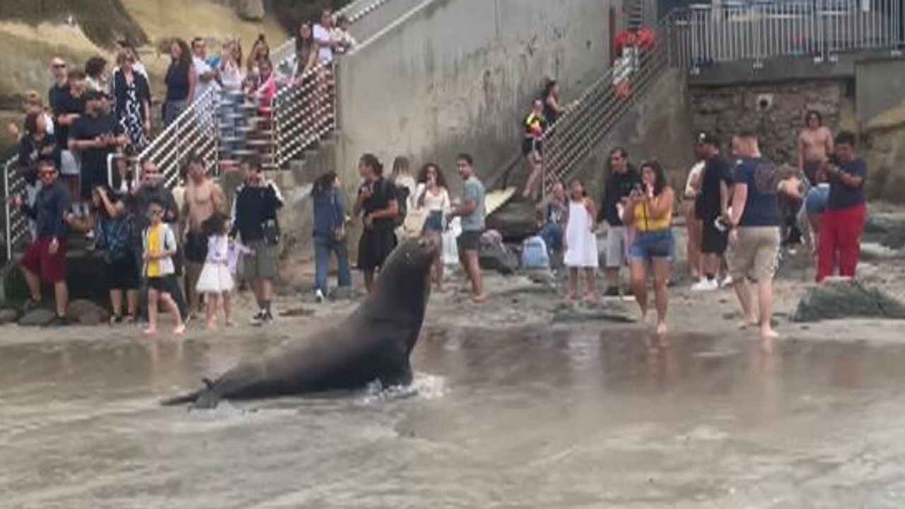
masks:
<svg viewBox="0 0 905 509"><path fill-rule="evenodd" d="M839 53L895 50L901 0L797 0L692 5L672 15L675 62L691 69L778 56L833 61Z"/></svg>

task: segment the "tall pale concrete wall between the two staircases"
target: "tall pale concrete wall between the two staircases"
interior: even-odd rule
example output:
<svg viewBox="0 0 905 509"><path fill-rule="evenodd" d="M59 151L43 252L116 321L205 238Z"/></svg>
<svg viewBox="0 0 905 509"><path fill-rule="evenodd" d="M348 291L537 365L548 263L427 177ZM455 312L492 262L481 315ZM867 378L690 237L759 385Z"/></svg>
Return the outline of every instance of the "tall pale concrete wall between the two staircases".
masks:
<svg viewBox="0 0 905 509"><path fill-rule="evenodd" d="M352 188L357 159L418 166L471 152L483 178L519 149L520 121L546 76L568 101L607 62L616 0L425 0L339 66L337 164Z"/></svg>

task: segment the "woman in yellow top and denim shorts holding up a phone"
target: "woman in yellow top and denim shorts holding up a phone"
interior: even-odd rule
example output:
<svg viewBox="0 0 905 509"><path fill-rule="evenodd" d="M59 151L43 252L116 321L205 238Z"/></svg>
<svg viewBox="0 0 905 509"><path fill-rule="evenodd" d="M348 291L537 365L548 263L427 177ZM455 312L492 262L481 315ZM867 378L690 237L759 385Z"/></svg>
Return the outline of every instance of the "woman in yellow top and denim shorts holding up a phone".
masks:
<svg viewBox="0 0 905 509"><path fill-rule="evenodd" d="M641 165L642 187L635 189L625 206L624 222L635 231L629 248L632 263L632 289L641 306L642 321L647 318L647 264L653 269L653 292L657 303L657 333L666 333L666 282L675 256L672 239L672 206L675 193L666 183L657 161Z"/></svg>

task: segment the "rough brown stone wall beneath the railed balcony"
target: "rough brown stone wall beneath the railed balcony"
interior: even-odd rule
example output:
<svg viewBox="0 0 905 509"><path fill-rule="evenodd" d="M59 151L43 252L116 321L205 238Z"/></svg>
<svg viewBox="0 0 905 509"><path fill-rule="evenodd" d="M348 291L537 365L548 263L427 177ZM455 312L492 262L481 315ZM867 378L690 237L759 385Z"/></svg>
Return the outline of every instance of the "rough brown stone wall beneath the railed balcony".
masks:
<svg viewBox="0 0 905 509"><path fill-rule="evenodd" d="M852 103L846 81L810 81L691 87L694 130L708 130L729 142L741 130L754 130L761 150L777 164L797 164L797 137L806 110L817 110L836 130Z"/></svg>

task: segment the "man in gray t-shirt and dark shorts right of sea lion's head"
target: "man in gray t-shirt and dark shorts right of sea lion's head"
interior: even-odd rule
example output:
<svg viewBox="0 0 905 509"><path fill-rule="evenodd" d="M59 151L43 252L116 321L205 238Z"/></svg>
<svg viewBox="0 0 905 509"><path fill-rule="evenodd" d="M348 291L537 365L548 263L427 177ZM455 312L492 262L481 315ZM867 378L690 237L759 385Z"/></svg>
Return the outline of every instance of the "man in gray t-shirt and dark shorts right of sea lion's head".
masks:
<svg viewBox="0 0 905 509"><path fill-rule="evenodd" d="M462 216L462 235L459 235L459 260L469 279L472 280L472 301L483 303L487 300L484 283L481 280L481 265L478 263L478 249L481 246L481 234L484 233L484 219L487 210L484 208L484 185L474 175L472 156L459 154L456 168L465 182L462 190L462 203L452 209L452 216Z"/></svg>

